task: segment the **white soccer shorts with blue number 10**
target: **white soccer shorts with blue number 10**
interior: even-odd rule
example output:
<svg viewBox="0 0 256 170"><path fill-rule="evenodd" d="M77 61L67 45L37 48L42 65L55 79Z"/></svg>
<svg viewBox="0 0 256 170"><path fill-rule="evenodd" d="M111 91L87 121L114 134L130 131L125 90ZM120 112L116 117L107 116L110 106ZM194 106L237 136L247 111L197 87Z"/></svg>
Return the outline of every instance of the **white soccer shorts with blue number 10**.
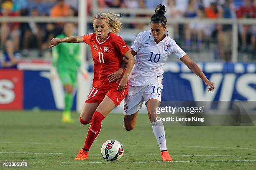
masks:
<svg viewBox="0 0 256 170"><path fill-rule="evenodd" d="M162 96L162 78L158 77L150 85L132 86L129 85L128 94L124 100L124 115L132 115L141 109L143 102L145 104L149 99L156 99L161 102Z"/></svg>

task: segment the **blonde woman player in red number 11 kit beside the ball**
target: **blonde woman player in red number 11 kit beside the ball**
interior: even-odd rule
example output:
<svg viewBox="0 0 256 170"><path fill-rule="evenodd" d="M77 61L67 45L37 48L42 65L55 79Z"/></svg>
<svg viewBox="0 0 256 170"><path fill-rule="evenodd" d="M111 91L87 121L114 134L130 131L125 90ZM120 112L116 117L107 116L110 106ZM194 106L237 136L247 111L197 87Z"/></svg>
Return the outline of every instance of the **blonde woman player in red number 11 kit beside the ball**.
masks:
<svg viewBox="0 0 256 170"><path fill-rule="evenodd" d="M91 126L84 147L75 160L87 159L90 147L100 133L102 120L120 104L128 92L128 76L134 65L134 57L123 39L115 34L122 28L118 17L120 15L113 13L98 13L93 20L94 33L51 40L50 47L61 42L85 42L91 47L94 61L92 89L80 115L80 122L84 125L91 122ZM108 75L120 69L123 57L128 63L120 83L109 82Z"/></svg>

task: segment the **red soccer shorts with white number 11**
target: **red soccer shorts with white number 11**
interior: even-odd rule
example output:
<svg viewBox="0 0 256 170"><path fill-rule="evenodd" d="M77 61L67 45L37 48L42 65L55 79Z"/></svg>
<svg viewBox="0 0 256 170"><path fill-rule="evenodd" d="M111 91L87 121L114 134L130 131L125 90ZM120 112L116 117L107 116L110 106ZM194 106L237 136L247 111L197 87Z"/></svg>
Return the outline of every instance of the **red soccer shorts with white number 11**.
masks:
<svg viewBox="0 0 256 170"><path fill-rule="evenodd" d="M120 102L125 98L125 96L128 93L128 84L126 85L125 89L118 92L116 89L118 87L112 87L107 90L100 90L96 89L95 87L92 87L92 89L89 92L89 95L87 97L86 103L101 103L104 99L105 95L107 95L114 103L115 106L120 105Z"/></svg>

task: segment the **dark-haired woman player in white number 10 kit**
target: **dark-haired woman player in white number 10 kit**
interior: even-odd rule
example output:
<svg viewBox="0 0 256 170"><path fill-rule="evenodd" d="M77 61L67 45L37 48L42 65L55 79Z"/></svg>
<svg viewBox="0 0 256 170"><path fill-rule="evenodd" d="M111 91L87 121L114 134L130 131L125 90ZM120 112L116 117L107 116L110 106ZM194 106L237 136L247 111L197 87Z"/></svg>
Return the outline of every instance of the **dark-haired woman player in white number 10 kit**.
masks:
<svg viewBox="0 0 256 170"><path fill-rule="evenodd" d="M151 17L151 30L138 34L131 46L131 53L136 55L135 65L129 76L129 90L125 97L124 121L126 130L133 130L137 115L143 101L145 101L148 117L151 121L154 135L161 150L164 161L172 161L165 140L164 126L161 121L156 121L156 107L161 103L161 90L163 79L163 66L169 56L174 55L198 75L205 85L209 85L208 91L214 91L214 83L210 82L197 64L168 36L166 30L167 19L164 16L164 5L158 5L155 14ZM124 60L125 61L125 60ZM109 75L109 80L116 81L118 77Z"/></svg>

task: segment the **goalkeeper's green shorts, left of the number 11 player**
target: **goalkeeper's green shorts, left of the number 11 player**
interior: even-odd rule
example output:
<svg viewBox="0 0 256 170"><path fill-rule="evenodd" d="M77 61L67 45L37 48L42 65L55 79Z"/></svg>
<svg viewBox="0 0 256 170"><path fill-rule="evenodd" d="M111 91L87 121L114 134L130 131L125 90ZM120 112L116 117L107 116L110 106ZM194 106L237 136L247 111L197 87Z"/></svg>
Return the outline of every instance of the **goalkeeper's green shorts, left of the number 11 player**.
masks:
<svg viewBox="0 0 256 170"><path fill-rule="evenodd" d="M71 84L74 87L77 86L77 71L58 70L58 74L62 85Z"/></svg>

